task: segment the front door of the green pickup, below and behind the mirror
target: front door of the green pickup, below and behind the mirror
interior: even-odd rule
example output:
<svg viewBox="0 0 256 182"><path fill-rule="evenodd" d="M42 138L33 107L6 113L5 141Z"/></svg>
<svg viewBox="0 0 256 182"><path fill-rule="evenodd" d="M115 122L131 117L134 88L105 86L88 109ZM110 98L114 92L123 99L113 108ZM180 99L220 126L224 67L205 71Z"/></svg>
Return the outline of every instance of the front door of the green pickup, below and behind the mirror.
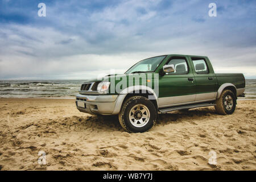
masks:
<svg viewBox="0 0 256 182"><path fill-rule="evenodd" d="M159 77L159 106L181 105L196 98L193 71L185 56L173 56L166 64L173 64L175 72Z"/></svg>

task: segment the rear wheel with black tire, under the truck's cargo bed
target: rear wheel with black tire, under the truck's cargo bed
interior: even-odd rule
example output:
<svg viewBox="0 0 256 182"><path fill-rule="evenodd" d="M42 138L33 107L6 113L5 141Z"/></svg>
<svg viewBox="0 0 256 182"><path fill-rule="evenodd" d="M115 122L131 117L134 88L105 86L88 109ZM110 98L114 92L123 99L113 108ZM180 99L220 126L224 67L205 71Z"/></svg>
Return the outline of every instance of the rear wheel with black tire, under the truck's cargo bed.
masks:
<svg viewBox="0 0 256 182"><path fill-rule="evenodd" d="M221 93L220 98L216 100L215 104L215 109L218 114L232 114L236 109L236 97L231 90L224 90Z"/></svg>

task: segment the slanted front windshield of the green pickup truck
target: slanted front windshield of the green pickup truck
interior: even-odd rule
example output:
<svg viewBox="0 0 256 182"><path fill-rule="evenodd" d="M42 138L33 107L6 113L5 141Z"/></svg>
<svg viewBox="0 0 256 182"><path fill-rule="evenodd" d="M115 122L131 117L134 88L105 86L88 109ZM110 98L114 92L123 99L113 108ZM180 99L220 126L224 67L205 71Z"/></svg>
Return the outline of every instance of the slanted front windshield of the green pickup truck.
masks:
<svg viewBox="0 0 256 182"><path fill-rule="evenodd" d="M158 57L151 57L148 59L144 59L142 61L139 61L133 67L128 69L126 74L129 73L143 73L143 72L154 72L155 69L158 67L158 65L161 63L161 61L166 56L158 56Z"/></svg>

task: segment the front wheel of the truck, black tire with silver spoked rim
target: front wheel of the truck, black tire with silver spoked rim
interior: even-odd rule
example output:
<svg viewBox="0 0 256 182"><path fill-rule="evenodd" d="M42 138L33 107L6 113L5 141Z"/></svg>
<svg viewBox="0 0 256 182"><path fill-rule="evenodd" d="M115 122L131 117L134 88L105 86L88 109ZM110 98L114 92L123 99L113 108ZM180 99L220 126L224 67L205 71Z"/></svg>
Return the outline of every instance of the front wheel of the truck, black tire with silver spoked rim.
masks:
<svg viewBox="0 0 256 182"><path fill-rule="evenodd" d="M155 125L157 112L154 104L146 97L133 96L122 105L119 123L129 133L143 133Z"/></svg>

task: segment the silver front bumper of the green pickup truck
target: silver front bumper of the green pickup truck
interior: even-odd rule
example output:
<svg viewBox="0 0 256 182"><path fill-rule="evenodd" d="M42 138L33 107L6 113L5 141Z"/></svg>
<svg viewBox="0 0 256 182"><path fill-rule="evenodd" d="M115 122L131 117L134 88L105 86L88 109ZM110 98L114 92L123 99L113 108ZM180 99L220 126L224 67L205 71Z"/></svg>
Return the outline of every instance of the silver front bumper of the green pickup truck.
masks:
<svg viewBox="0 0 256 182"><path fill-rule="evenodd" d="M84 95L77 94L76 107L79 111L89 114L118 114L126 94L119 95ZM84 102L85 107L77 106L77 101Z"/></svg>

